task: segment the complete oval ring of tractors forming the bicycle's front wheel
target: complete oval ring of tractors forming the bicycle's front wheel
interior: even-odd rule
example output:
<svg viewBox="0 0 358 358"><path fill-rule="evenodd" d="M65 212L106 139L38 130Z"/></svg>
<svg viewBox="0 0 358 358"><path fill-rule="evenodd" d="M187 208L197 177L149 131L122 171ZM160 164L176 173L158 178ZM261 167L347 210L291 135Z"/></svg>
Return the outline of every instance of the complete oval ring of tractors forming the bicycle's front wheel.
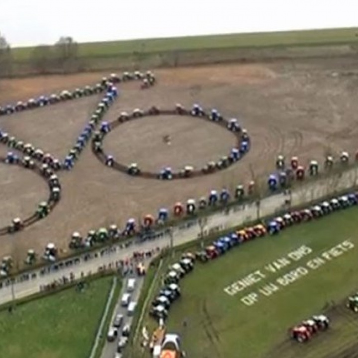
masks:
<svg viewBox="0 0 358 358"><path fill-rule="evenodd" d="M194 168L191 165L186 165L177 172L174 171L172 167L162 168L157 173L145 171L141 169L137 163L125 165L116 161L112 155L108 155L104 152L103 140L105 136L121 124L136 119L160 115L190 116L192 118L200 118L206 122L214 123L232 132L236 137L236 145L230 150L230 153L222 156L218 161L210 161L202 168ZM171 137L169 135L164 136L163 141L167 145L171 145ZM243 158L243 156L249 152L250 144L251 141L247 130L241 128L236 118L225 119L216 109L207 112L198 104L194 104L191 109L186 109L180 104L177 104L174 109L160 109L153 106L148 110L137 108L131 113L122 112L117 120L110 123L102 122L99 130L96 131L92 137L92 151L107 167L133 177L160 180L193 178L224 170Z"/></svg>

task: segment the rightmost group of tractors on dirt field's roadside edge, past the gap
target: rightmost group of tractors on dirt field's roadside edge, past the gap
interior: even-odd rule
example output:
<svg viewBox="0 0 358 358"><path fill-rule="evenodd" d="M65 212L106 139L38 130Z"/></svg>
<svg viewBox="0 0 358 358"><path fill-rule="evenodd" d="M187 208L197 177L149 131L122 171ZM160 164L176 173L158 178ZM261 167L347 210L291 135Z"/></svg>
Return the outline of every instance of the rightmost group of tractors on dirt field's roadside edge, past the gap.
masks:
<svg viewBox="0 0 358 358"><path fill-rule="evenodd" d="M355 155L355 161L358 162L358 151ZM331 155L326 156L324 161L324 171L327 173L329 170L337 166L347 166L350 163L350 155L348 152L341 152L339 160ZM309 177L318 176L321 173L320 165L317 160L311 160L307 166L299 162L298 157L291 157L289 163L283 155L276 158L275 163L276 172L269 175L267 185L270 191L275 191L282 188L287 188L291 185L293 180L302 181L308 175Z"/></svg>

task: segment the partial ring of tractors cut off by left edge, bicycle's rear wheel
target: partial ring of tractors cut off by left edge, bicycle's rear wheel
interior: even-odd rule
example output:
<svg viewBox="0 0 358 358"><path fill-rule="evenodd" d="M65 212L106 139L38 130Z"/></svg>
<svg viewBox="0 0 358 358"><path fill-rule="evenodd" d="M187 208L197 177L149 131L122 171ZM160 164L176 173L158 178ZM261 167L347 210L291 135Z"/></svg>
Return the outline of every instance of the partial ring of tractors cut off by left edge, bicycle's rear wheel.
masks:
<svg viewBox="0 0 358 358"><path fill-rule="evenodd" d="M19 157L13 152L8 152L6 157L0 157L0 163L7 165L15 165L36 173L40 178L46 181L49 187L49 197L45 201L41 201L35 212L26 219L20 217L13 218L9 225L0 228L0 235L7 235L18 232L25 227L28 227L37 221L47 217L54 209L61 198L61 185L59 179L54 174L48 164L42 164L41 168L29 156Z"/></svg>

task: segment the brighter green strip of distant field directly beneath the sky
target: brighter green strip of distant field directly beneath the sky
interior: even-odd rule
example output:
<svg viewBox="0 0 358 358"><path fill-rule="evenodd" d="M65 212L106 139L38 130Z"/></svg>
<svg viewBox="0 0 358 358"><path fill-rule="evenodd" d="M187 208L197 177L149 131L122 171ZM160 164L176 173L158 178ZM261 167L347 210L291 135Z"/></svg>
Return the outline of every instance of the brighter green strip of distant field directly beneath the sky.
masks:
<svg viewBox="0 0 358 358"><path fill-rule="evenodd" d="M133 52L151 54L157 52L223 49L234 47L299 46L322 44L358 43L358 28L265 32L211 36L189 36L163 39L139 39L82 43L81 57L117 57ZM13 49L15 61L27 61L33 48Z"/></svg>

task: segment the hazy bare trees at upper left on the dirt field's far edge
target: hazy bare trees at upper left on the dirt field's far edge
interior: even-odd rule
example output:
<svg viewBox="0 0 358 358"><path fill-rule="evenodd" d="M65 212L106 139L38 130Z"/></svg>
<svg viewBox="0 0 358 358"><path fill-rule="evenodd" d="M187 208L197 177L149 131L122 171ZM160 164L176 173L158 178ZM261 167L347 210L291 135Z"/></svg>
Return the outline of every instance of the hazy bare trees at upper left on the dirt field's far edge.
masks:
<svg viewBox="0 0 358 358"><path fill-rule="evenodd" d="M14 65L11 45L0 33L0 77L10 76ZM48 74L54 69L64 73L77 71L80 67L78 43L70 36L63 36L53 46L36 46L26 65L39 74Z"/></svg>

